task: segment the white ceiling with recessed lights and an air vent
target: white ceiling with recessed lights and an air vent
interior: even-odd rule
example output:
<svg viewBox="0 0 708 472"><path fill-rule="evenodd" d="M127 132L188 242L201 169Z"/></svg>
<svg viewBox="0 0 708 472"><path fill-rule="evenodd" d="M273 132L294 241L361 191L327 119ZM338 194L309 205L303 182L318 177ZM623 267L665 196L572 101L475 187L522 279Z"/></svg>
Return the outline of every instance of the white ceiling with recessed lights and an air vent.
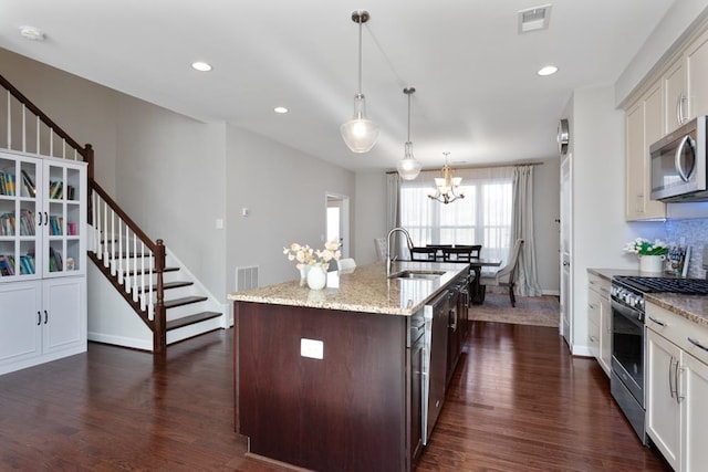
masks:
<svg viewBox="0 0 708 472"><path fill-rule="evenodd" d="M0 46L357 171L403 158L403 88L415 86L416 158L438 167L449 151L450 164L477 165L556 155L571 92L614 84L673 2L552 0L550 28L519 34L517 12L544 0L3 0ZM358 9L371 13L363 92L381 127L367 154L339 133L357 87ZM46 40L23 39L20 25ZM197 60L214 70L194 71ZM538 76L546 64L558 74Z"/></svg>

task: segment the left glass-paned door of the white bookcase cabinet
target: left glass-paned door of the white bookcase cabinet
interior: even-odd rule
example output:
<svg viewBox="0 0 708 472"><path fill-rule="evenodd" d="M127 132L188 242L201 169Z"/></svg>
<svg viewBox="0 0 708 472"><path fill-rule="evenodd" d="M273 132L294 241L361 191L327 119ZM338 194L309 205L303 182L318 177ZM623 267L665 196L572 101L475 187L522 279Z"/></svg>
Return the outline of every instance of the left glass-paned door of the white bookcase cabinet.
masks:
<svg viewBox="0 0 708 472"><path fill-rule="evenodd" d="M0 153L0 281L38 279L41 160ZM38 254L39 252L39 254Z"/></svg>

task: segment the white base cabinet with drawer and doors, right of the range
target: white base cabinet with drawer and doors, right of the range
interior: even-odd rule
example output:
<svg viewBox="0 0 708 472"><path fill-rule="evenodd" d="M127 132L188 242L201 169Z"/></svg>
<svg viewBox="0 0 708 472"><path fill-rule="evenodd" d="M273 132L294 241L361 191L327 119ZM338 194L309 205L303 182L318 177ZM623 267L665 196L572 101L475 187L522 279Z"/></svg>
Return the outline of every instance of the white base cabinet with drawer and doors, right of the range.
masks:
<svg viewBox="0 0 708 472"><path fill-rule="evenodd" d="M675 471L702 471L708 464L708 327L650 303L646 316L647 434Z"/></svg>

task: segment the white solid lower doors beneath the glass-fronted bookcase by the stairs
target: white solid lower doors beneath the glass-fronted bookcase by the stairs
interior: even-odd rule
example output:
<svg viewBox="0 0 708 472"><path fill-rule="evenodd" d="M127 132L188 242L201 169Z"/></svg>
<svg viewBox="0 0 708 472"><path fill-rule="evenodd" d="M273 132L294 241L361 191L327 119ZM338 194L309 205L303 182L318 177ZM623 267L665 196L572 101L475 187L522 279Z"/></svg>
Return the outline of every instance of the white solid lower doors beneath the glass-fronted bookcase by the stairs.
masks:
<svg viewBox="0 0 708 472"><path fill-rule="evenodd" d="M84 276L0 284L0 375L85 350Z"/></svg>

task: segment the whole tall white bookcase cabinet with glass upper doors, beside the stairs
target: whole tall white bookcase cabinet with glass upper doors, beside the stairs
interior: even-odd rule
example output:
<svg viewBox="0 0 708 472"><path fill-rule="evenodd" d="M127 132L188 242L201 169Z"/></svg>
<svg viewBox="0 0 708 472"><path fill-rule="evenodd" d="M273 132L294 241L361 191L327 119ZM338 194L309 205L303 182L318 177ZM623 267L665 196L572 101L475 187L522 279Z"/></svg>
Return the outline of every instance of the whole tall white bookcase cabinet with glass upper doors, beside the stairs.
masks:
<svg viewBox="0 0 708 472"><path fill-rule="evenodd" d="M0 151L0 374L86 350L86 166Z"/></svg>

